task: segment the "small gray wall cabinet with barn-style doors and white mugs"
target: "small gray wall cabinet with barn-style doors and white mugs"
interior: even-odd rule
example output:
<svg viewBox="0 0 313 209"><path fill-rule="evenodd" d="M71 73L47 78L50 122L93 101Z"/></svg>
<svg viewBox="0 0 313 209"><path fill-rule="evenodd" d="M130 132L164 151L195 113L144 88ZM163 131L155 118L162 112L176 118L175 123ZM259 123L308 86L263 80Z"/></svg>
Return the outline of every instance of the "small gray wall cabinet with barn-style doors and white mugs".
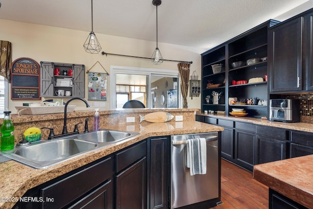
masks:
<svg viewBox="0 0 313 209"><path fill-rule="evenodd" d="M84 65L53 62L40 62L40 64L40 96L85 97Z"/></svg>

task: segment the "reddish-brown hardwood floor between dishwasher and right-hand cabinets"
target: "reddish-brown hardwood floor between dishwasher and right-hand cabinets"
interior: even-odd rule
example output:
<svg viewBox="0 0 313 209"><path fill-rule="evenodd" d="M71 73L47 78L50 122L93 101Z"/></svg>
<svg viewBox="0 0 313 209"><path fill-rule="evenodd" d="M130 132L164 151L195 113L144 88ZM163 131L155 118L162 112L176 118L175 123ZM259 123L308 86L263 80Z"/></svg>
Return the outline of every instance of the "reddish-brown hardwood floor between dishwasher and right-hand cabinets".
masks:
<svg viewBox="0 0 313 209"><path fill-rule="evenodd" d="M268 187L252 172L222 159L221 199L213 209L268 209Z"/></svg>

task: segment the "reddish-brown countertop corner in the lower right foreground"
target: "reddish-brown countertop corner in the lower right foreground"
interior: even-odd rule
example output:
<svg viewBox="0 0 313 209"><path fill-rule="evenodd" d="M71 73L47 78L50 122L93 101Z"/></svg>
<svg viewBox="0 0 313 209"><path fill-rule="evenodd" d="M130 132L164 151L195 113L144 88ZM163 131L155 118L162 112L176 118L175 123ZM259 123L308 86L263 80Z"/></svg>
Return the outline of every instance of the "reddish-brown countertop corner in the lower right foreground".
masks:
<svg viewBox="0 0 313 209"><path fill-rule="evenodd" d="M253 178L307 208L313 206L313 155L254 165Z"/></svg>

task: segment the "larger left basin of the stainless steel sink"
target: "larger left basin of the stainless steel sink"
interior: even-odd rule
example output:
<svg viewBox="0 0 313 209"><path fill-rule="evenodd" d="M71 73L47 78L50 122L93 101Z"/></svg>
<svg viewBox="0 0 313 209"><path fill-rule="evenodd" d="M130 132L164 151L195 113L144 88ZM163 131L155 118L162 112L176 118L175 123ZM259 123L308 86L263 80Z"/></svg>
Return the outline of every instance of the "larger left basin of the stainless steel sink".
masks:
<svg viewBox="0 0 313 209"><path fill-rule="evenodd" d="M95 142L77 139L41 140L32 142L30 146L16 147L11 152L1 152L1 154L39 169L80 156L96 149L97 146L98 144Z"/></svg>

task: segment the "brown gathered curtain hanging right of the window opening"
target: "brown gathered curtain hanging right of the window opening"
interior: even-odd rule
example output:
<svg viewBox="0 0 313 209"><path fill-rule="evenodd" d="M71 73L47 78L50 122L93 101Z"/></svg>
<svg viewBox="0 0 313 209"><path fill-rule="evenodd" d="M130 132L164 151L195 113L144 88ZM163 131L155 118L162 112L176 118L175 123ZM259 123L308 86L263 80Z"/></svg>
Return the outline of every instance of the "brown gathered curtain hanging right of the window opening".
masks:
<svg viewBox="0 0 313 209"><path fill-rule="evenodd" d="M190 74L190 63L179 63L178 70L180 73L180 89L183 98L182 108L188 108L187 105L187 94L189 87L189 74Z"/></svg>

